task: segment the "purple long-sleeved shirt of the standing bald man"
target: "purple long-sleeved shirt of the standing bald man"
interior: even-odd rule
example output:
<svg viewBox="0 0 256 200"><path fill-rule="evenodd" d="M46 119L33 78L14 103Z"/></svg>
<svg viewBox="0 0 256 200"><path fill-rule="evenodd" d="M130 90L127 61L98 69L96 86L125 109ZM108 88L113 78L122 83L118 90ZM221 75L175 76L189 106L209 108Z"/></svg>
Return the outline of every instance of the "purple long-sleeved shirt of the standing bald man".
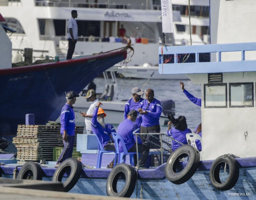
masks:
<svg viewBox="0 0 256 200"><path fill-rule="evenodd" d="M152 102L148 103L148 100L144 99L135 110L138 111L139 108L148 112L147 114L142 115L141 126L151 127L159 125L159 118L162 113L162 105L160 101L154 99Z"/></svg>

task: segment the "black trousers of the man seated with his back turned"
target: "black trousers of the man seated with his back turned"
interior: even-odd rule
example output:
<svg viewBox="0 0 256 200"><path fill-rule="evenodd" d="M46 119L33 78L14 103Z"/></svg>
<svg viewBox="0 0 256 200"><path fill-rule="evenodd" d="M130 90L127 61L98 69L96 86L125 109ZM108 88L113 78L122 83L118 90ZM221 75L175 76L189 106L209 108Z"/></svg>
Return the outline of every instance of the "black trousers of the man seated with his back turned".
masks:
<svg viewBox="0 0 256 200"><path fill-rule="evenodd" d="M128 152L136 152L136 144L132 146L131 149L128 150ZM142 167L147 162L148 154L149 154L149 146L148 144L139 144L138 145L138 152L140 153L139 158L139 166ZM134 165L137 165L137 154L134 154L133 156Z"/></svg>

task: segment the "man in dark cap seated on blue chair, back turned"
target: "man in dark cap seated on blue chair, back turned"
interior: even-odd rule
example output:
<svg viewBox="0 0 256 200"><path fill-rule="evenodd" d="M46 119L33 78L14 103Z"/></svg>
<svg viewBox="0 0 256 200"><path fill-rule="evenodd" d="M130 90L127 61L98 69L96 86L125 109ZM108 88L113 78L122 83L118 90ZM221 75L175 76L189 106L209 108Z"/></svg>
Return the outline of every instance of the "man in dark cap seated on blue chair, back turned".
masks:
<svg viewBox="0 0 256 200"><path fill-rule="evenodd" d="M139 133L139 127L136 123L134 123L137 119L137 111L131 110L128 113L127 119L121 122L118 126L117 133L124 139L124 143L128 152L136 152L136 136L134 133ZM140 137L137 137L138 140L138 152L140 154L139 166L144 167L148 154L149 154L149 146L147 144L143 144ZM122 152L123 147L121 143L118 144L119 150ZM134 164L136 165L137 158L136 154L134 156Z"/></svg>

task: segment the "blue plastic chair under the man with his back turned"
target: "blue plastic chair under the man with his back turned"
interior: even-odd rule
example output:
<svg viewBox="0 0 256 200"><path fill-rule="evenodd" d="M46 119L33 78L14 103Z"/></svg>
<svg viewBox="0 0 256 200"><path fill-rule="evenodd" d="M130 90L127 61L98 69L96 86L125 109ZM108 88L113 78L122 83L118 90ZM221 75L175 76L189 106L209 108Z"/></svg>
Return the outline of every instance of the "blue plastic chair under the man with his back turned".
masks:
<svg viewBox="0 0 256 200"><path fill-rule="evenodd" d="M132 166L134 166L133 155L137 154L137 152L128 152L128 150L126 149L123 138L118 133L113 133L112 132L111 134L112 134L113 140L114 140L115 145L116 145L116 156L115 156L115 161L114 161L114 167L116 166L116 161L117 161L117 164L120 164L120 163L123 162L123 156L124 155L130 155L130 164ZM122 144L122 147L123 147L123 150L124 150L123 152L119 152L119 148L118 148L118 142L119 141ZM140 153L139 153L139 155L140 155ZM125 162L125 158L124 158L124 162Z"/></svg>

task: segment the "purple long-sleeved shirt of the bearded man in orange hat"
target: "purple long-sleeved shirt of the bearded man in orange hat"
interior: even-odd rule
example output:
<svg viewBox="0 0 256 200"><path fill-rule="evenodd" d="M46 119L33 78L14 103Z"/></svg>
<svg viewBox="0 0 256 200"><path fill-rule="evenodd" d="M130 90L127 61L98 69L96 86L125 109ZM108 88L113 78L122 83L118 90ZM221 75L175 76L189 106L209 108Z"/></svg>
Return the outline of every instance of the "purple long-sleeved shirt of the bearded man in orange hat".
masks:
<svg viewBox="0 0 256 200"><path fill-rule="evenodd" d="M98 136L98 138L100 139L100 143L104 148L105 145L109 141L111 141L110 139L111 132L116 133L116 130L111 124L105 124L106 126L105 129L100 125L100 123L97 121L98 109L99 109L98 107L95 108L92 116L92 131Z"/></svg>

